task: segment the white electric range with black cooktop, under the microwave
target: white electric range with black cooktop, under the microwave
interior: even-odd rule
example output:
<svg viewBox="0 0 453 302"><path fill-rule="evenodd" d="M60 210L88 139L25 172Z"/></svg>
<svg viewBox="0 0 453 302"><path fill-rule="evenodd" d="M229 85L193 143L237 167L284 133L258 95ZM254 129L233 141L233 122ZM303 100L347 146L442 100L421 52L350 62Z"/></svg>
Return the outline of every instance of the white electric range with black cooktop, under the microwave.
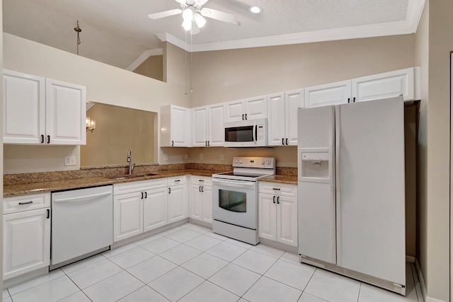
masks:
<svg viewBox="0 0 453 302"><path fill-rule="evenodd" d="M233 171L212 175L212 231L258 244L258 179L273 174L275 158L235 157Z"/></svg>

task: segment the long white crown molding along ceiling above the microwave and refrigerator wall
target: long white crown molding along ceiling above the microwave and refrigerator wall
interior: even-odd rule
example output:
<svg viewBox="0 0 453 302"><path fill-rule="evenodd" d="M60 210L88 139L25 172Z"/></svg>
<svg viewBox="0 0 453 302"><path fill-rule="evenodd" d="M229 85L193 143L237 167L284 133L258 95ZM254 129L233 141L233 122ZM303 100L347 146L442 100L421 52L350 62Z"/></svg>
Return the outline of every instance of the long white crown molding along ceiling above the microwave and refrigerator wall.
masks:
<svg viewBox="0 0 453 302"><path fill-rule="evenodd" d="M359 39L363 37L382 37L389 35L408 35L415 33L420 21L425 0L409 0L406 20L388 23L361 25L348 28L333 28L329 30L315 30L303 33L286 35L271 35L253 37L241 40L210 42L189 45L168 33L159 33L156 36L163 42L170 42L187 52L207 52L214 50L234 50L240 48L266 47L275 45L302 44L311 42L326 42L334 40Z"/></svg>

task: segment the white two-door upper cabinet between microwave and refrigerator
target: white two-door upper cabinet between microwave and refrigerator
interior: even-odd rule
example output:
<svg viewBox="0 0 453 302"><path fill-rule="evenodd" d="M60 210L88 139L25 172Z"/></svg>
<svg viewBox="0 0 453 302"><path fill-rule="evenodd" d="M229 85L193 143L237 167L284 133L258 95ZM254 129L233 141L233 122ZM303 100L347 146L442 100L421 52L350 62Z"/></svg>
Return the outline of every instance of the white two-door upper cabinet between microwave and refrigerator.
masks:
<svg viewBox="0 0 453 302"><path fill-rule="evenodd" d="M304 89L268 95L269 146L297 145L297 109L304 107Z"/></svg>

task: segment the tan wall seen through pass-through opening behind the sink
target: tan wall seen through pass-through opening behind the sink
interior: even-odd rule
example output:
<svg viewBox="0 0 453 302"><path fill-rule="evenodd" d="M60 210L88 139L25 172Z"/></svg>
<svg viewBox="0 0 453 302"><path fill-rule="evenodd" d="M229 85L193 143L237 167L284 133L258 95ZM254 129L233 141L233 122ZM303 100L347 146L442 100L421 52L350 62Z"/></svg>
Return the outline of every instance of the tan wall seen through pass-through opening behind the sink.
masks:
<svg viewBox="0 0 453 302"><path fill-rule="evenodd" d="M95 104L86 116L96 120L96 129L86 132L86 145L80 146L80 165L126 164L127 151L132 163L154 163L155 112Z"/></svg>

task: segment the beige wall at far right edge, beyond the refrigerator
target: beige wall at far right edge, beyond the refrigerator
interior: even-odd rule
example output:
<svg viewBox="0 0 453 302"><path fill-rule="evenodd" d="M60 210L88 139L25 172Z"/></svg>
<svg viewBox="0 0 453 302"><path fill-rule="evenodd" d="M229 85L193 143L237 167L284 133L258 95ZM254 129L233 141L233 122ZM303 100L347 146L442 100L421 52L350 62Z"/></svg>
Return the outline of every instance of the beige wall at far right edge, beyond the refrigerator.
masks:
<svg viewBox="0 0 453 302"><path fill-rule="evenodd" d="M428 16L424 18L428 17L428 21L424 21L424 27L420 28L420 42L417 43L417 58L422 66L428 67L422 78L425 91L420 111L422 184L418 259L427 288L427 300L449 301L449 62L453 50L453 2L427 1L426 8ZM428 50L421 45L422 42L428 42Z"/></svg>

